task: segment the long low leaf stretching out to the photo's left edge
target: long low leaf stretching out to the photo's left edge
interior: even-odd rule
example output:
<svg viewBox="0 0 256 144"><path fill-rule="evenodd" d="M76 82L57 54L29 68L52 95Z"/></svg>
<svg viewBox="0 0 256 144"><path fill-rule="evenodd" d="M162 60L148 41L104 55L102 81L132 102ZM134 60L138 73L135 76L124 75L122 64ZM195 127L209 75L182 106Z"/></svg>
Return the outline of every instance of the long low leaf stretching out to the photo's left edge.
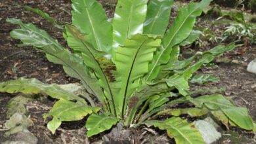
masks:
<svg viewBox="0 0 256 144"><path fill-rule="evenodd" d="M68 92L57 84L44 84L37 79L25 79L20 78L7 82L0 83L0 92L16 93L22 92L23 94L47 94L52 98L66 99L66 100L77 100L80 103L86 105L84 99L79 98L72 92Z"/></svg>

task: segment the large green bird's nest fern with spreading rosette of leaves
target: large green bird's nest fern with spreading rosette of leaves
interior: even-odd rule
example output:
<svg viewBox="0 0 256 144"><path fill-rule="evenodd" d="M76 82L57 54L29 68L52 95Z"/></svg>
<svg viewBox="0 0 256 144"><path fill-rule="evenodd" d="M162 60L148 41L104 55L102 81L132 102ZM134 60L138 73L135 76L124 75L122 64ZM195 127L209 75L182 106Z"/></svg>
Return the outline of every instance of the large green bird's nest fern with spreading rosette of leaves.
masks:
<svg viewBox="0 0 256 144"><path fill-rule="evenodd" d="M247 109L234 106L220 94L194 98L188 92L188 80L195 71L215 56L236 48L234 44L220 45L179 60L179 46L194 41L196 17L210 2L182 7L169 29L172 0L119 0L111 22L97 1L72 0L72 24L62 23L64 27L41 10L25 7L64 28L72 52L46 31L18 19L7 20L20 25L11 31L11 37L22 41L18 46L33 46L50 62L63 65L89 95L81 98L58 84L25 78L0 83L0 92L43 93L58 99L43 115L52 118L47 128L53 134L63 121L81 120L87 115L88 137L120 122L126 128L146 124L167 130L177 143L204 143L193 124L179 117L183 114L211 114L224 124L253 130ZM179 103L194 106L181 109ZM163 115L168 117L157 120Z"/></svg>

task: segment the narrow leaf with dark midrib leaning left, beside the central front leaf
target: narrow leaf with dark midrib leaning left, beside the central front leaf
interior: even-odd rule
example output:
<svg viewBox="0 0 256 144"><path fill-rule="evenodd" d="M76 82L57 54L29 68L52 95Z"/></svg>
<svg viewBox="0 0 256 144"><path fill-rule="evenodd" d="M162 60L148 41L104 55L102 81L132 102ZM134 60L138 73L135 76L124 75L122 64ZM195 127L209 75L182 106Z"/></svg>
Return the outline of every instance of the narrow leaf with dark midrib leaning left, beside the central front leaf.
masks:
<svg viewBox="0 0 256 144"><path fill-rule="evenodd" d="M98 56L100 56L100 52L92 48L91 44L87 42L87 39L86 39L87 35L80 33L79 30L73 26L66 26L66 27L67 27L66 30L67 30L68 45L74 50L81 51L85 65L93 69L98 79L98 84L102 88L104 88L104 94L106 98L104 98L104 96L99 96L100 102L102 104L106 103L107 102L106 99L108 99L108 102L112 101L112 107L110 108L112 109L113 113L116 115L115 101L112 94L112 89L110 87L110 83L108 81L108 78L104 74L104 71L100 66L100 63L98 62L98 58L99 58Z"/></svg>

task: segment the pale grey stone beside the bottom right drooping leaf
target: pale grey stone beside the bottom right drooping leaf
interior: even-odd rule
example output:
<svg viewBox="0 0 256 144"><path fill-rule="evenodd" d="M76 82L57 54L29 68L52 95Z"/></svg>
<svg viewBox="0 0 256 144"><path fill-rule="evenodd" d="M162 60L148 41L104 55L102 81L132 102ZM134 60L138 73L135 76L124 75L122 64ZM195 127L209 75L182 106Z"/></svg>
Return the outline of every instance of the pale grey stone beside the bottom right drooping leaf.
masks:
<svg viewBox="0 0 256 144"><path fill-rule="evenodd" d="M196 120L194 124L196 126L196 129L202 135L205 143L211 144L221 138L221 133L217 132L213 124L205 120Z"/></svg>

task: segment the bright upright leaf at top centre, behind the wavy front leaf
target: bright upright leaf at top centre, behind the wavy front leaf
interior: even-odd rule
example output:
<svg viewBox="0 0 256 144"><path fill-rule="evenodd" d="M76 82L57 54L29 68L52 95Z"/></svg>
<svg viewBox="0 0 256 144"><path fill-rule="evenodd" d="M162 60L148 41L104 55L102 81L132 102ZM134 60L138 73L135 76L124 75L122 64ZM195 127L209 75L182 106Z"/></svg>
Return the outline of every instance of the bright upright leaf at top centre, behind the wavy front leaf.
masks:
<svg viewBox="0 0 256 144"><path fill-rule="evenodd" d="M142 33L148 0L119 0L113 20L114 48L123 46L127 39Z"/></svg>

